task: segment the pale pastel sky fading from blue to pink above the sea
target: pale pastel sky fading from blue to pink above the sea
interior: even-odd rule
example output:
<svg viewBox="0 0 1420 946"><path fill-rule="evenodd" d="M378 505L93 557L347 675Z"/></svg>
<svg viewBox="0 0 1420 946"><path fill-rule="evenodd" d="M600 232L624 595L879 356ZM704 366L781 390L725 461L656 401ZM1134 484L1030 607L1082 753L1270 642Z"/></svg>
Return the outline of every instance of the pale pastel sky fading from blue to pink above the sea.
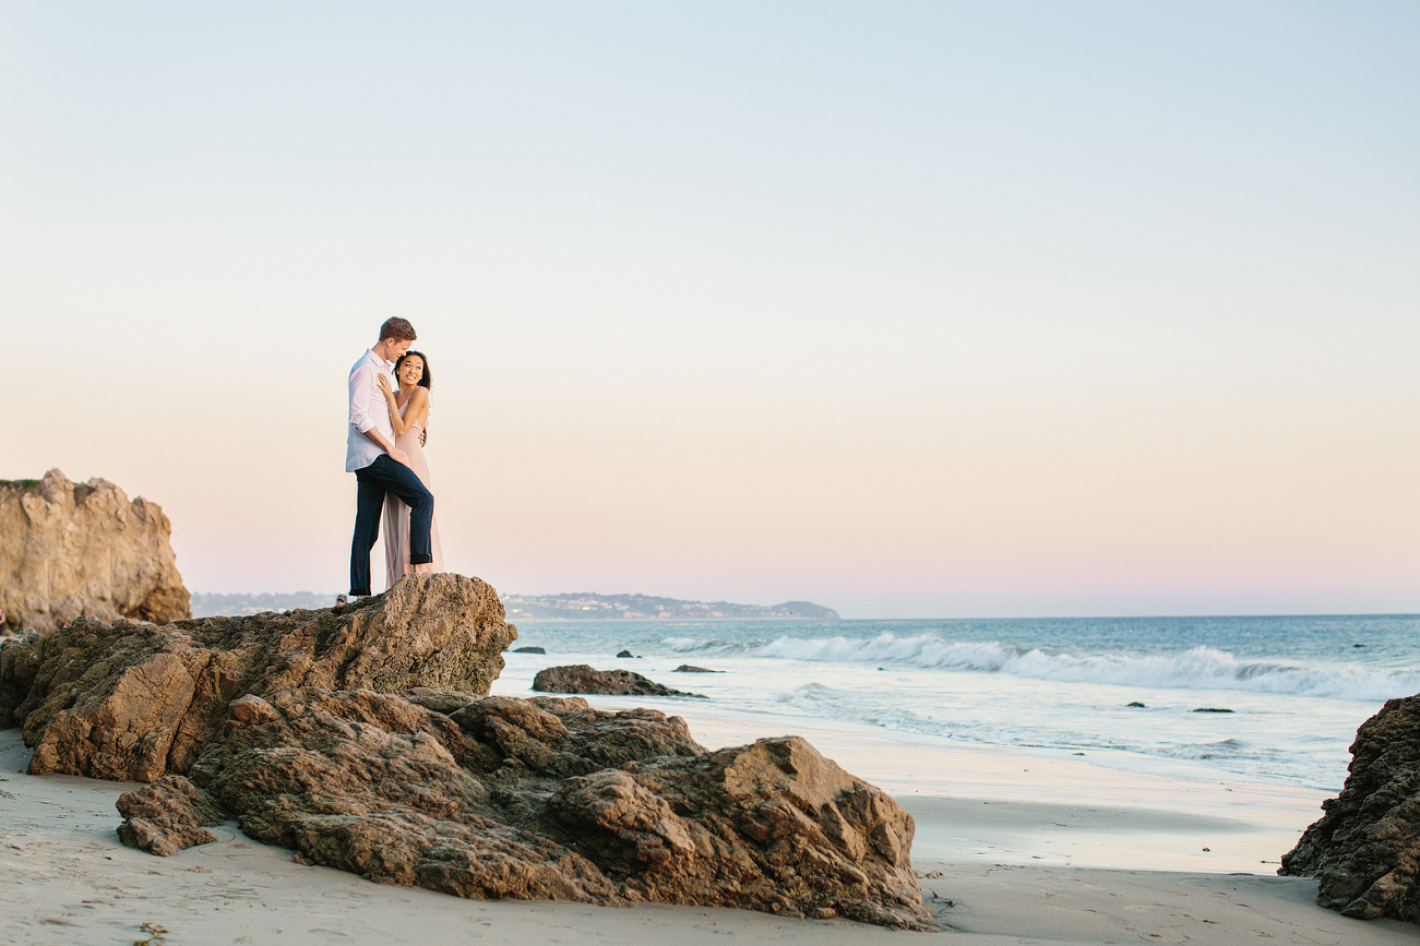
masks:
<svg viewBox="0 0 1420 946"><path fill-rule="evenodd" d="M0 477L160 503L193 591L344 589L403 315L506 592L1420 611L1417 48L1358 0L4 4Z"/></svg>

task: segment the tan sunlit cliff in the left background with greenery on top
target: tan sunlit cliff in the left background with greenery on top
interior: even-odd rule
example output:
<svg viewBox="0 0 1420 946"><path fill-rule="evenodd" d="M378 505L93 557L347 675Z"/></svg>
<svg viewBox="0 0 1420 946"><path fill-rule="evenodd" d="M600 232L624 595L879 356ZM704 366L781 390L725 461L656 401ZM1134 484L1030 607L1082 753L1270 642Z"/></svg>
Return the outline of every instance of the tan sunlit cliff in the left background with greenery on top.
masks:
<svg viewBox="0 0 1420 946"><path fill-rule="evenodd" d="M132 503L108 480L0 483L0 609L18 626L54 631L80 616L178 621L190 615L156 503Z"/></svg>

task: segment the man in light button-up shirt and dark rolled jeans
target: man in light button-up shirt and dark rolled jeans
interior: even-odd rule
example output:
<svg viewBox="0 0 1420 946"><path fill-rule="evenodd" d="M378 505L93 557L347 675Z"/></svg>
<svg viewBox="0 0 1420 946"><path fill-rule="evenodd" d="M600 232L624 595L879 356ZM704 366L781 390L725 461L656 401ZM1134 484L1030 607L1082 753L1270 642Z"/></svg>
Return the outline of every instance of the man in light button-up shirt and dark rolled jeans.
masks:
<svg viewBox="0 0 1420 946"><path fill-rule="evenodd" d="M351 543L351 598L369 594L369 550L379 535L379 517L385 511L385 493L393 493L409 506L409 561L415 565L433 561L429 523L435 516L435 497L409 469L409 456L395 446L395 428L389 406L379 389L381 374L389 375L395 362L415 342L415 327L403 318L388 318L379 327L379 344L366 351L351 368L351 423L345 440L345 472L359 483L355 500L355 538Z"/></svg>

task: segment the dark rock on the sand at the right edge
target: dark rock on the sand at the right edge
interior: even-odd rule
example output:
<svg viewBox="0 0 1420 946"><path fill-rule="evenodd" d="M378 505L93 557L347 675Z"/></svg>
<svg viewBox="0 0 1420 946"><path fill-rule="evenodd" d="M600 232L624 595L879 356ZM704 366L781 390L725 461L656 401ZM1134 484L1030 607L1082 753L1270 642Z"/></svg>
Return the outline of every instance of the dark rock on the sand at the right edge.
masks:
<svg viewBox="0 0 1420 946"><path fill-rule="evenodd" d="M1346 916L1420 922L1420 696L1389 700L1356 730L1350 774L1278 874L1315 876Z"/></svg>

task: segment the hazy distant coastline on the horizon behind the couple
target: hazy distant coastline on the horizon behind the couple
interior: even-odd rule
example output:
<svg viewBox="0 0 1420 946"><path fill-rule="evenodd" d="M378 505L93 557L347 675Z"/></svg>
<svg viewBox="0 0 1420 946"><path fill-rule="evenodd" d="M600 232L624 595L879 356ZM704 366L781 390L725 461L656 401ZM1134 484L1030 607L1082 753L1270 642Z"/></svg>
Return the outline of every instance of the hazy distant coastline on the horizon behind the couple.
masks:
<svg viewBox="0 0 1420 946"><path fill-rule="evenodd" d="M297 608L329 608L338 592L318 594L213 594L192 595L192 615L261 614ZM747 605L731 601L683 601L655 595L599 595L571 592L559 595L503 595L508 621L838 621L838 612L811 601L785 601L777 605Z"/></svg>

